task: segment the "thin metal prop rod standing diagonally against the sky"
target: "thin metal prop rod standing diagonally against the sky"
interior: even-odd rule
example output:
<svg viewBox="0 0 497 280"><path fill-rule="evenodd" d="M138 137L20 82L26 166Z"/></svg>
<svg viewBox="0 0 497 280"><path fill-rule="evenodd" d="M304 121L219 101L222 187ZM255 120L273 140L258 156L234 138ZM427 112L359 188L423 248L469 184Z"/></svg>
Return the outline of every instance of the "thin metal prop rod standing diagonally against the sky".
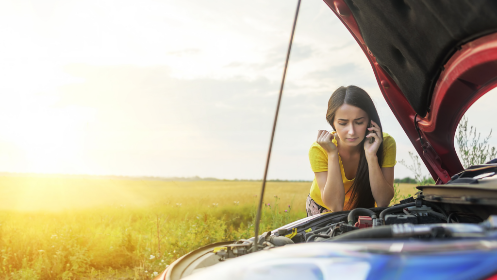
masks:
<svg viewBox="0 0 497 280"><path fill-rule="evenodd" d="M293 34L295 33L295 26L297 25L297 16L299 15L300 1L297 3L297 11L295 12L295 19L293 20L292 34L290 35L290 43L288 44L288 51L286 53L285 68L283 70L283 79L281 80L280 93L278 97L278 104L276 105L276 114L274 116L273 131L271 133L271 140L269 141L269 150L267 152L266 168L264 169L264 178L262 179L262 189L260 190L259 205L257 206L257 215L255 216L255 237L253 239L252 251L258 251L258 233L259 222L262 211L262 199L264 198L264 190L266 188L267 169L269 167L269 158L271 156L271 148L273 146L274 131L276 130L276 121L278 120L279 106L281 103L281 96L283 94L283 85L285 84L286 69L288 68L288 59L290 58L290 50L292 49Z"/></svg>

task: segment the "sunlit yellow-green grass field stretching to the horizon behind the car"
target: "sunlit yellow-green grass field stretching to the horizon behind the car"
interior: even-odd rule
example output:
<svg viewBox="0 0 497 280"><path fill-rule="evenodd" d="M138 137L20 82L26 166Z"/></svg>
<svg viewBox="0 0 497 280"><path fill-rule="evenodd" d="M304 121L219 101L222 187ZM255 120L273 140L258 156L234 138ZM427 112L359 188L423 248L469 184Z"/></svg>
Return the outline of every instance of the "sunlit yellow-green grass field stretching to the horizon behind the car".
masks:
<svg viewBox="0 0 497 280"><path fill-rule="evenodd" d="M310 184L269 182L262 231L305 217ZM260 186L0 176L0 279L151 279L193 249L253 235Z"/></svg>

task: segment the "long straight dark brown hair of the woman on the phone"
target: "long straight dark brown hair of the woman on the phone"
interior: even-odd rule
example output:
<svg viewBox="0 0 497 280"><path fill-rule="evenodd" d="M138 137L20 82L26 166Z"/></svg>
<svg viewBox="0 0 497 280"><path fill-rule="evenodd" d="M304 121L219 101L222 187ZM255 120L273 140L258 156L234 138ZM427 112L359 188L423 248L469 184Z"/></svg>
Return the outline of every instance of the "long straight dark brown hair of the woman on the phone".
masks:
<svg viewBox="0 0 497 280"><path fill-rule="evenodd" d="M343 104L348 104L351 106L358 107L364 110L369 117L369 121L373 120L381 129L380 117L378 116L378 111L374 106L373 100L367 94L367 92L356 86L339 87L333 94L331 94L330 101L328 101L328 111L326 112L326 120L330 123L333 130L333 121L335 118L335 113L338 108ZM383 129L381 129L383 133ZM367 133L368 131L366 131ZM359 166L357 167L357 173L355 175L354 182L352 186L347 191L350 192L350 199L348 200L347 209L354 209L358 207L362 208L372 208L374 207L375 200L373 193L371 192L371 185L369 183L369 169L368 162L366 160L366 154L364 153L364 139L361 141L360 145L360 158ZM380 144L378 151L376 152L378 157L378 163L383 163L383 142Z"/></svg>

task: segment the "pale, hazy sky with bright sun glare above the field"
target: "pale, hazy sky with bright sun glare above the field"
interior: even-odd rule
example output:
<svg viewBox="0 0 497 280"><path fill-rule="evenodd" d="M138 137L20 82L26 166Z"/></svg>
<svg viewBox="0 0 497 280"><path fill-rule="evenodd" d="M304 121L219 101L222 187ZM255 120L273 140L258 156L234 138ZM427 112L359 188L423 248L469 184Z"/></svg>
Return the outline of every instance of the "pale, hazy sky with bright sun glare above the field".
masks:
<svg viewBox="0 0 497 280"><path fill-rule="evenodd" d="M262 178L296 4L1 1L0 172ZM268 178L313 179L328 99L352 84L410 162L366 56L322 0L303 0ZM496 101L466 114L482 135Z"/></svg>

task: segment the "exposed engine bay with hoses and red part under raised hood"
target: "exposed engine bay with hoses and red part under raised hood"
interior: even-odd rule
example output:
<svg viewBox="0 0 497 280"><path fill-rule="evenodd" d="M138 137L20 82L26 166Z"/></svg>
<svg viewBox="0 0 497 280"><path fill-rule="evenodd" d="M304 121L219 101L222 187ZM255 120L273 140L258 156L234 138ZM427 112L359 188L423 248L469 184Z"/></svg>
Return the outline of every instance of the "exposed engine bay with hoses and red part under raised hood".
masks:
<svg viewBox="0 0 497 280"><path fill-rule="evenodd" d="M497 160L496 160L497 161ZM445 185L418 186L390 207L307 217L254 238L216 248L220 261L258 250L310 242L497 237L497 164L472 166Z"/></svg>

